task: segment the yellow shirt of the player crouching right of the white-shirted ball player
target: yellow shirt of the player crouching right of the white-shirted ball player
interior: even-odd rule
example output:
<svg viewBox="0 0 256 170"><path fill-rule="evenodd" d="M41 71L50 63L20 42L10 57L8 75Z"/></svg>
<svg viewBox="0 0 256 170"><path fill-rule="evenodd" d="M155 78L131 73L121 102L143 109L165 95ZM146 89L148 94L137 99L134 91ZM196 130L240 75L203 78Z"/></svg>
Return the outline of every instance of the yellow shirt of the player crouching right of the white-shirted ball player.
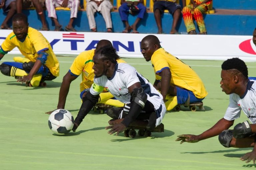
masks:
<svg viewBox="0 0 256 170"><path fill-rule="evenodd" d="M190 90L199 99L207 96L208 93L204 84L196 72L189 65L163 48L159 48L153 53L151 62L154 67L156 80L161 81L160 72L168 68L171 71L170 85Z"/></svg>

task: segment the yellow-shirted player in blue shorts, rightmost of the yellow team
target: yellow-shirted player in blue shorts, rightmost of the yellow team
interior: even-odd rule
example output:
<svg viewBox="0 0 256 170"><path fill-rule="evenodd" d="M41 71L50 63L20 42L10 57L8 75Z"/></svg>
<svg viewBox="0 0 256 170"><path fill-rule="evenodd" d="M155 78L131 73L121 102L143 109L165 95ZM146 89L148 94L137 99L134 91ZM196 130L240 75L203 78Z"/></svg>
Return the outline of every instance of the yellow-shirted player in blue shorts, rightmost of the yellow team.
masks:
<svg viewBox="0 0 256 170"><path fill-rule="evenodd" d="M141 49L146 61L152 62L156 76L154 87L161 91L167 110L177 104L201 102L207 96L204 84L196 72L165 51L156 36L144 37Z"/></svg>

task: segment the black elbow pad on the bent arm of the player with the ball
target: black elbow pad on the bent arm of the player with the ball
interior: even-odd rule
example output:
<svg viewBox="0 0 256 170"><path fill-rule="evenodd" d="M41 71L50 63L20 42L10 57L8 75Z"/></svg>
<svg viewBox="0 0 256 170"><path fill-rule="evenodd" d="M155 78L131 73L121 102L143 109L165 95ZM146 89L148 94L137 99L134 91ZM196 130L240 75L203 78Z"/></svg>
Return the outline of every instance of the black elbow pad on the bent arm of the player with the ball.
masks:
<svg viewBox="0 0 256 170"><path fill-rule="evenodd" d="M146 93L143 91L143 89L140 88L135 88L132 93L131 93L131 100L130 102L135 102L136 104L138 104L142 109L145 106L145 103L147 101L147 95Z"/></svg>

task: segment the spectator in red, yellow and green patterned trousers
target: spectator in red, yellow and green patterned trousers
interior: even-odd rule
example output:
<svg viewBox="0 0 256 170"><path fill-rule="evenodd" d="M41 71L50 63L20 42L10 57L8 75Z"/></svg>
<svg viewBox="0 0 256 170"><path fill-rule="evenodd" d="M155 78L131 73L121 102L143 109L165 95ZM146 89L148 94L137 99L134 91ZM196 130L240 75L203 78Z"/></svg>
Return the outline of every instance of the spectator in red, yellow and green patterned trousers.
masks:
<svg viewBox="0 0 256 170"><path fill-rule="evenodd" d="M193 17L196 20L200 34L207 34L202 13L208 11L208 5L211 1L212 0L191 0L191 4L183 8L183 20L188 34L196 34Z"/></svg>

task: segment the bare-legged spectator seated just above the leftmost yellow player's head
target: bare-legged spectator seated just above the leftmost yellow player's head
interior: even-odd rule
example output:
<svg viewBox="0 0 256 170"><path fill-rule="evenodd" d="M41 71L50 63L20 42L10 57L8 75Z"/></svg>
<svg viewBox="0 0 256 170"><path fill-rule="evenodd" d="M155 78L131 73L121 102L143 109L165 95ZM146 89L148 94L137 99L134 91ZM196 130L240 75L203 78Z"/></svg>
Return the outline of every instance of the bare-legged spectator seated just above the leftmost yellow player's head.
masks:
<svg viewBox="0 0 256 170"><path fill-rule="evenodd" d="M22 9L35 7L36 12L38 13L40 20L42 22L42 28L41 31L49 31L48 25L46 23L44 13L43 13L43 6L44 0L16 0L17 4L17 13L22 13Z"/></svg>

